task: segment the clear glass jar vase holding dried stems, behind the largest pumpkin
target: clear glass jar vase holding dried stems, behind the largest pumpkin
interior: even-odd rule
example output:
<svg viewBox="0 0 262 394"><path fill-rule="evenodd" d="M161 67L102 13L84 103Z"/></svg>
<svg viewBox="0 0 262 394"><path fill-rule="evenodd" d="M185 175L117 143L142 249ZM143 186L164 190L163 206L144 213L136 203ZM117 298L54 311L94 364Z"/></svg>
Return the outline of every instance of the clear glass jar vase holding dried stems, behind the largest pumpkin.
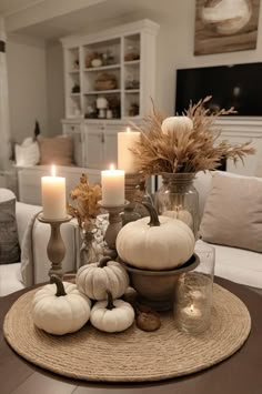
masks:
<svg viewBox="0 0 262 394"><path fill-rule="evenodd" d="M162 186L155 194L159 214L180 219L196 238L199 228L199 193L193 185L194 173L161 173Z"/></svg>

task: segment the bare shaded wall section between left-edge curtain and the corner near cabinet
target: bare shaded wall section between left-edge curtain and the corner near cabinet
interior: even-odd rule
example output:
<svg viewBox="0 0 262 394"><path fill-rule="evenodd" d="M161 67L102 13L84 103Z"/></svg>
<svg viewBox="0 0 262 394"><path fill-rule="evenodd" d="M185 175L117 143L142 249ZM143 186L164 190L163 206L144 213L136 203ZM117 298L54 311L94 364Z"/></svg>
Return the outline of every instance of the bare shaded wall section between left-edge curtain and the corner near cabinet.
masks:
<svg viewBox="0 0 262 394"><path fill-rule="evenodd" d="M47 67L42 41L8 38L7 63L9 79L11 139L21 142L33 135L34 122L47 132Z"/></svg>

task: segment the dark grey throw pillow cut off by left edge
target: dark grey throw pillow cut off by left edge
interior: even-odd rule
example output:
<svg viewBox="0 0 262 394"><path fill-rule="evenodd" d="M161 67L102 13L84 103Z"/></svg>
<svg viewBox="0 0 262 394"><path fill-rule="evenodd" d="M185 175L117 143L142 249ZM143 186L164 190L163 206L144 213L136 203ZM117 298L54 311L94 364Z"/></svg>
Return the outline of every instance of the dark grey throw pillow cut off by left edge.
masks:
<svg viewBox="0 0 262 394"><path fill-rule="evenodd" d="M0 203L0 264L12 264L19 261L16 200L12 199Z"/></svg>

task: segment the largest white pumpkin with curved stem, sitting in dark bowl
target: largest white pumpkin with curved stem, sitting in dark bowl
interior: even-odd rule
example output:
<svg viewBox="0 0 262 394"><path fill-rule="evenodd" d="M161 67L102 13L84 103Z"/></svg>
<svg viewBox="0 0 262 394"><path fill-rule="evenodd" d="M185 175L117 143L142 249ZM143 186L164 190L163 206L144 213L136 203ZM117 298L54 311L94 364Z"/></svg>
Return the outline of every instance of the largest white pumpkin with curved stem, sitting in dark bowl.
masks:
<svg viewBox="0 0 262 394"><path fill-rule="evenodd" d="M149 218L125 224L117 236L119 256L145 270L170 270L185 263L194 252L194 234L181 220L158 216L149 203Z"/></svg>

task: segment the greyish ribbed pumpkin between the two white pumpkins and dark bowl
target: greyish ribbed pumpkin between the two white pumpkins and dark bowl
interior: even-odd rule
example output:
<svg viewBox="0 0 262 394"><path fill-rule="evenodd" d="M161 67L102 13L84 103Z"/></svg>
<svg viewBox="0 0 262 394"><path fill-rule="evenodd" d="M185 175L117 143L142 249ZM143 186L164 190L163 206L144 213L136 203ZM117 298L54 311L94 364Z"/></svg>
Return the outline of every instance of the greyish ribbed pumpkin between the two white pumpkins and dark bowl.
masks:
<svg viewBox="0 0 262 394"><path fill-rule="evenodd" d="M120 263L104 256L99 263L81 266L75 282L79 290L92 300L107 300L107 290L113 299L119 299L129 286L129 275Z"/></svg>

